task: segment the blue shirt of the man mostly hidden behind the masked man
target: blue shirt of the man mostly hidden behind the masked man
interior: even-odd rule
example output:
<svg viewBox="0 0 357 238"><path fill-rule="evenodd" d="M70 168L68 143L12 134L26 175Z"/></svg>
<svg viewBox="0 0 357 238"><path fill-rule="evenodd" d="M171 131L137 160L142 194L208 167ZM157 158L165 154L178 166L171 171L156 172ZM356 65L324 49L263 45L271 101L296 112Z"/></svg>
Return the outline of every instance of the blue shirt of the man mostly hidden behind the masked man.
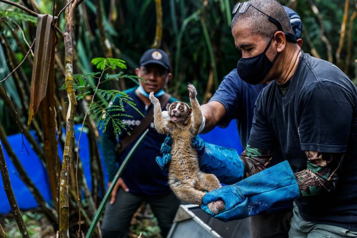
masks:
<svg viewBox="0 0 357 238"><path fill-rule="evenodd" d="M226 108L226 117L219 122L227 127L232 119L237 119L240 143L245 149L252 125L255 100L266 84L251 85L238 76L237 68L227 74L210 101L220 102Z"/></svg>

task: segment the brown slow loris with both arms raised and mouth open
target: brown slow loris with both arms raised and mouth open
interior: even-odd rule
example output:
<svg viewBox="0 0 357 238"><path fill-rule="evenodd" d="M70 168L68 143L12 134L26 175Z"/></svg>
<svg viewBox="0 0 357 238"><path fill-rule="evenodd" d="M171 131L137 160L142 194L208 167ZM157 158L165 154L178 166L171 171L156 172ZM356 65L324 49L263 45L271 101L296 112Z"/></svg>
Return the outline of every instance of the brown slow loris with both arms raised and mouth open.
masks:
<svg viewBox="0 0 357 238"><path fill-rule="evenodd" d="M192 84L187 85L192 108L186 103L174 102L168 104L166 110L169 118L164 119L159 100L151 92L149 98L154 105L154 124L159 133L170 134L173 139L171 146L172 161L169 166L169 185L176 196L188 203L202 203L204 191L212 191L221 187L213 174L199 170L197 151L191 145L201 126L203 116L196 98L197 91ZM192 114L192 116L191 116ZM213 213L225 208L222 200L211 202L208 207Z"/></svg>

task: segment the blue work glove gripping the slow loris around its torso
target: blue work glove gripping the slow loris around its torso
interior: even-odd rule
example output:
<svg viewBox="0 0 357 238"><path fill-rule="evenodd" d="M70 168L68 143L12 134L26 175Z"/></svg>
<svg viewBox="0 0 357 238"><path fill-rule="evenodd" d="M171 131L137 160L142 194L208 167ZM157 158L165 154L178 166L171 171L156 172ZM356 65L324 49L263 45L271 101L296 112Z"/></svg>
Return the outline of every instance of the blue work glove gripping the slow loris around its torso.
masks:
<svg viewBox="0 0 357 238"><path fill-rule="evenodd" d="M162 157L156 157L160 168L167 170L171 162L172 138L168 135L161 145ZM235 149L204 142L198 135L192 138L192 146L197 150L199 167L202 172L214 174L221 182L232 184L244 176L244 165Z"/></svg>

